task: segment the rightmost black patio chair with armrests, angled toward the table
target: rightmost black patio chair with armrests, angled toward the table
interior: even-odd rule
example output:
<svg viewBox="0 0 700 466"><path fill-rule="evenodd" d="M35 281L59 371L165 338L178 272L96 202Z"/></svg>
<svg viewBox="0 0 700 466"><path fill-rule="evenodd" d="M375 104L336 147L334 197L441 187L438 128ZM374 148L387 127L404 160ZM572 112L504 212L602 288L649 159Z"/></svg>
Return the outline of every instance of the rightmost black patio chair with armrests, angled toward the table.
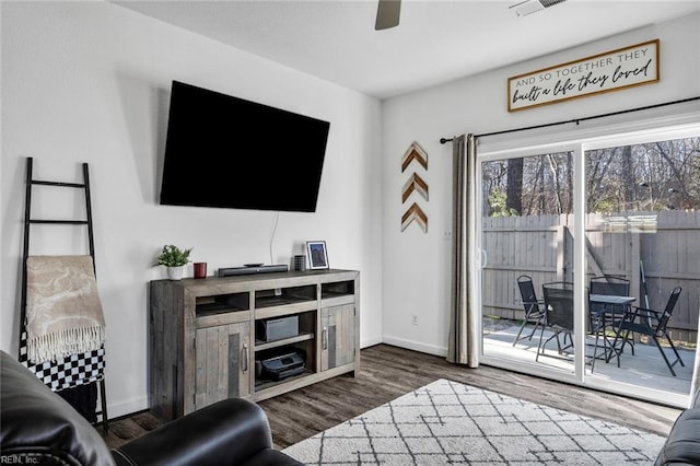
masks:
<svg viewBox="0 0 700 466"><path fill-rule="evenodd" d="M618 338L627 340L630 334L646 335L654 341L656 348L658 348L661 356L664 358L664 361L666 362L666 365L668 366L668 370L674 377L676 376L676 373L673 369L674 365L676 365L677 363L680 363L680 365L682 366L686 365L682 363L680 354L678 354L678 350L676 350L676 347L670 340L667 330L668 321L670 321L674 308L676 307L676 302L678 301L680 291L680 287L674 288L663 312L644 307L634 307L634 311L627 312L625 314L625 318L622 319L622 322L620 322L619 328L617 330L618 336L615 337L614 342L614 346L616 346ZM668 341L668 346L676 354L676 360L674 362L668 361L666 352L658 341L658 339L662 337L666 338L666 340ZM632 347L632 354L634 354L634 347Z"/></svg>

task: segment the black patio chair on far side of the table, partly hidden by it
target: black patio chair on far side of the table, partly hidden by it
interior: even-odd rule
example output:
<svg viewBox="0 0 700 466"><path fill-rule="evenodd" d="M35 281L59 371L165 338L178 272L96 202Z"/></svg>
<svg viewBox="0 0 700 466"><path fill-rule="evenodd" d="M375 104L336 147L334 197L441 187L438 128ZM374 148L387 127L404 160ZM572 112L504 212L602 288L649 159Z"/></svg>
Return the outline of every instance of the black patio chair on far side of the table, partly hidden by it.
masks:
<svg viewBox="0 0 700 466"><path fill-rule="evenodd" d="M592 277L588 282L588 295L604 294L615 296L629 296L630 281L623 277L614 275L605 275L602 277ZM605 304L588 299L588 334L595 335L593 349L593 359L591 360L591 373L595 368L595 361L598 359L598 342L603 340L603 357L605 362L609 362L612 354L617 357L618 366L620 364L619 353L622 347L633 345L632 340L622 340L620 348L608 347L608 330L612 330L619 326L625 316L628 305Z"/></svg>

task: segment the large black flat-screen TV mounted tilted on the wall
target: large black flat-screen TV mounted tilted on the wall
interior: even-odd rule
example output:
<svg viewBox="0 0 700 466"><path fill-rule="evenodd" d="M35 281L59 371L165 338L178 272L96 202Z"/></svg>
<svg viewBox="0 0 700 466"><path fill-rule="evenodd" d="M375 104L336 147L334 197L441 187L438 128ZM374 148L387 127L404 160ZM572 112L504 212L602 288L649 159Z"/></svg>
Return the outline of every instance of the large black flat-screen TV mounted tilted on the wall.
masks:
<svg viewBox="0 0 700 466"><path fill-rule="evenodd" d="M160 202L314 212L329 129L173 81Z"/></svg>

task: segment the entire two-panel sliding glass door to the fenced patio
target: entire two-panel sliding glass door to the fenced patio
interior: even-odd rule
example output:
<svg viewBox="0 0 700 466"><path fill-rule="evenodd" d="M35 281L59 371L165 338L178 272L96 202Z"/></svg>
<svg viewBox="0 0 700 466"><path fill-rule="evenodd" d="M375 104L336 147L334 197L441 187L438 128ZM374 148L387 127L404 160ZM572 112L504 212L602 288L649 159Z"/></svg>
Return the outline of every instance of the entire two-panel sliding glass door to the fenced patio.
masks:
<svg viewBox="0 0 700 466"><path fill-rule="evenodd" d="M684 406L700 128L483 152L478 166L481 362Z"/></svg>

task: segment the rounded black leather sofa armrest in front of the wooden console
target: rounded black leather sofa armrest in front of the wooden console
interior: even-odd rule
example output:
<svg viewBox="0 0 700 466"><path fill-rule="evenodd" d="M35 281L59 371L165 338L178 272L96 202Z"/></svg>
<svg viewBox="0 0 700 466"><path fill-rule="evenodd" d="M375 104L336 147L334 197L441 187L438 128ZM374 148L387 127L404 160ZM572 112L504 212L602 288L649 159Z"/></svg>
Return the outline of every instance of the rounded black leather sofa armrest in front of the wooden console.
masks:
<svg viewBox="0 0 700 466"><path fill-rule="evenodd" d="M229 398L161 426L113 455L122 465L238 465L271 447L262 408Z"/></svg>

